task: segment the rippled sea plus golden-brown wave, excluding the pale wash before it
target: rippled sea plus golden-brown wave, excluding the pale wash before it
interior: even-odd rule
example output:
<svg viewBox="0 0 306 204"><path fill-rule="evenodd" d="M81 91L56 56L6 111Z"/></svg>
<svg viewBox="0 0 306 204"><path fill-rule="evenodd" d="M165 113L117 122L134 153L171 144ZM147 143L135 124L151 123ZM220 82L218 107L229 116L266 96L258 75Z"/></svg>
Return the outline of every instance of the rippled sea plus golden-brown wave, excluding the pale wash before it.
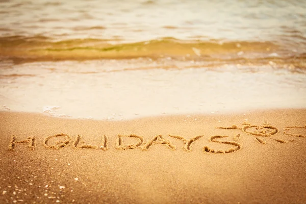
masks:
<svg viewBox="0 0 306 204"><path fill-rule="evenodd" d="M304 67L302 0L13 0L0 5L0 53L6 58L272 57L294 58Z"/></svg>

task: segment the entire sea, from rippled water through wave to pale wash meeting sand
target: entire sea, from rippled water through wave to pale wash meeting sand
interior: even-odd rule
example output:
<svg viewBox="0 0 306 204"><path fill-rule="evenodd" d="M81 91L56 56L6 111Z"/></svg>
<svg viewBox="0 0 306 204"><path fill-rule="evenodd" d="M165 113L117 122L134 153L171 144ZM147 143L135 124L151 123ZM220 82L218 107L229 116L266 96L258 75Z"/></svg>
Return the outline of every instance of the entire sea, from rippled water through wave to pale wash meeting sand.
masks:
<svg viewBox="0 0 306 204"><path fill-rule="evenodd" d="M305 1L1 1L0 25L2 111L306 107Z"/></svg>

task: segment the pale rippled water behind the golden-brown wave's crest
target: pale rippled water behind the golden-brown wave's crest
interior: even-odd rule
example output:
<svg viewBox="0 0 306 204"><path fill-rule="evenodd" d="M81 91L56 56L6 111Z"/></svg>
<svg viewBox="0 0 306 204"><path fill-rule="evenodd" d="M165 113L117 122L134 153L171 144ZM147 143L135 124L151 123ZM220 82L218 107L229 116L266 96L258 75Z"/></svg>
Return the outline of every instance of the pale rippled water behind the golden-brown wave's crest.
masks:
<svg viewBox="0 0 306 204"><path fill-rule="evenodd" d="M292 1L2 1L1 36L57 40L288 41L305 43L306 2Z"/></svg>

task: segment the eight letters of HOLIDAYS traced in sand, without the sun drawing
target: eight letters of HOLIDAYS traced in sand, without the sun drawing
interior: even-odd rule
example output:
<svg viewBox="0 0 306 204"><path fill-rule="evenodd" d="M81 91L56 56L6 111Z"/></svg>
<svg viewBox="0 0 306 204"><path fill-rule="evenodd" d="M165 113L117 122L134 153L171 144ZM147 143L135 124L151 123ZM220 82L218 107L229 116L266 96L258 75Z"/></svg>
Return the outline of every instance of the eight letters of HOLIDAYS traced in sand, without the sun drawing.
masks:
<svg viewBox="0 0 306 204"><path fill-rule="evenodd" d="M234 137L234 139L236 138L236 141L219 141L217 139L219 138L227 138L228 136L212 136L210 137L209 141L210 142L216 142L216 143L223 143L223 144L230 144L233 147L229 148L229 149L225 149L225 150L217 150L217 149L213 149L210 148L208 146L204 146L203 147L203 151L205 152L214 152L214 153L230 153L230 152L234 152L237 151L241 148L241 144L238 143L238 139L240 135L237 135ZM138 135L117 135L116 138L116 145L115 148L118 150L127 150L127 149L136 149L136 148L140 148L142 150L149 150L151 146L153 145L163 145L171 150L176 150L176 146L174 144L171 143L170 140L168 140L166 137L170 137L170 138L174 138L177 140L181 140L183 142L183 149L185 151L191 151L192 150L192 144L199 140L200 138L203 137L203 135L199 135L193 138L184 138L182 136L174 136L174 135L168 135L168 136L163 136L163 135L156 135L154 136L151 140L144 142L144 138L142 136L138 136ZM54 142L51 141L52 138L57 138L58 141ZM134 138L136 140L135 143L133 144L124 144L124 139L123 138ZM36 148L36 143L35 143L35 137L29 137L28 139L25 140L20 140L17 141L16 136L12 136L10 143L9 143L9 150L14 151L16 146L18 144L26 144L28 146L29 149L34 150ZM64 147L68 147L71 146L72 148L75 149L102 149L102 150L108 150L109 149L109 145L108 145L108 137L107 136L103 136L101 138L101 142L99 145L91 145L91 144L85 144L84 141L82 141L82 137L80 135L78 135L77 137L74 138L74 140L72 141L71 137L69 135L66 134L57 134L57 135L53 135L53 136L48 136L44 139L43 141L43 146L47 149L56 149L59 150L61 148Z"/></svg>

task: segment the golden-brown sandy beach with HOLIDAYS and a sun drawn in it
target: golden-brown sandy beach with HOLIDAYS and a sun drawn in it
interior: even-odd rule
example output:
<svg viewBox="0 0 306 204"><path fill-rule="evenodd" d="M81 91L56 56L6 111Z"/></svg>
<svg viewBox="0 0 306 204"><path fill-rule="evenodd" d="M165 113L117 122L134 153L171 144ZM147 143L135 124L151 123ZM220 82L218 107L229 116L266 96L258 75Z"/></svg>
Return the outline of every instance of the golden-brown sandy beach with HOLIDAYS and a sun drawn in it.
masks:
<svg viewBox="0 0 306 204"><path fill-rule="evenodd" d="M0 203L306 203L305 109L0 124Z"/></svg>

